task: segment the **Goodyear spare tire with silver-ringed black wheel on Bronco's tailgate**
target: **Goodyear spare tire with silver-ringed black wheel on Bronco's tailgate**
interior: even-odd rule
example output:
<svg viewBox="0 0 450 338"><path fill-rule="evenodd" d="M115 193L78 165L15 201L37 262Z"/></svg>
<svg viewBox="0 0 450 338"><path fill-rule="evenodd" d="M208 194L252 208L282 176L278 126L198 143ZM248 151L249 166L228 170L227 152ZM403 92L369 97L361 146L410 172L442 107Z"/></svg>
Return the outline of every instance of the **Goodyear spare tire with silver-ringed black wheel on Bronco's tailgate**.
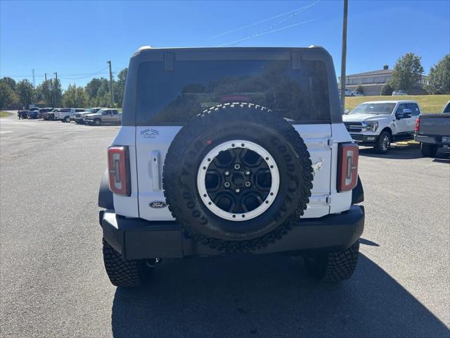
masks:
<svg viewBox="0 0 450 338"><path fill-rule="evenodd" d="M214 106L182 127L162 172L169 211L188 236L227 252L287 234L307 208L313 180L300 134L246 103Z"/></svg>

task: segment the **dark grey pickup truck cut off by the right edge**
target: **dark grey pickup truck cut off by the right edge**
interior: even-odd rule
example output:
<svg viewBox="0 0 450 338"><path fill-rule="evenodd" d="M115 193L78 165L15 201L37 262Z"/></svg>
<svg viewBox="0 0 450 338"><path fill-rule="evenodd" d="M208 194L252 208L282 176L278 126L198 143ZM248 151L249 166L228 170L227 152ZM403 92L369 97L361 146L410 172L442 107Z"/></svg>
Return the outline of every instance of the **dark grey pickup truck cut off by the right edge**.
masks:
<svg viewBox="0 0 450 338"><path fill-rule="evenodd" d="M418 116L414 139L420 142L423 156L428 157L435 156L439 147L450 146L450 101L441 113Z"/></svg>

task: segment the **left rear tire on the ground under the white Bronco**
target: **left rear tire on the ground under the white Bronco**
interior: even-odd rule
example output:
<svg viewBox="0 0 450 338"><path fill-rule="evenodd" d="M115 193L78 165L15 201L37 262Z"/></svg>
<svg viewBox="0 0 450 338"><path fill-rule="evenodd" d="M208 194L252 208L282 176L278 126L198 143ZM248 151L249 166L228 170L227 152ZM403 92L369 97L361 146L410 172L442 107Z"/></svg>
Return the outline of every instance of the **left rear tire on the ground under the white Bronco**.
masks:
<svg viewBox="0 0 450 338"><path fill-rule="evenodd" d="M141 287L148 282L153 268L145 260L126 261L103 239L103 262L110 281L116 287Z"/></svg>

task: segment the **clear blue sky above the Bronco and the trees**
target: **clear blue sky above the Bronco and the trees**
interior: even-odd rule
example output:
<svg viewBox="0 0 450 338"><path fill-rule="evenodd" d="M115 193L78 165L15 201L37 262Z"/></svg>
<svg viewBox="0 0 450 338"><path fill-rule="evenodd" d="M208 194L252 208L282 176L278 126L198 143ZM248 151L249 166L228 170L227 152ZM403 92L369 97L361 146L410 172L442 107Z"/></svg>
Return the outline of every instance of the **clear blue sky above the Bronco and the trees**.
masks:
<svg viewBox="0 0 450 338"><path fill-rule="evenodd" d="M0 77L32 80L34 68L38 84L44 73L52 77L58 72L65 88L74 82L84 85L92 77L108 77L108 60L118 73L139 46L230 42L321 45L333 56L339 73L342 7L341 0L1 0ZM278 16L289 11L294 12ZM399 56L410 51L422 56L426 74L450 53L450 1L349 0L347 46L347 74L381 69L384 64L392 68Z"/></svg>

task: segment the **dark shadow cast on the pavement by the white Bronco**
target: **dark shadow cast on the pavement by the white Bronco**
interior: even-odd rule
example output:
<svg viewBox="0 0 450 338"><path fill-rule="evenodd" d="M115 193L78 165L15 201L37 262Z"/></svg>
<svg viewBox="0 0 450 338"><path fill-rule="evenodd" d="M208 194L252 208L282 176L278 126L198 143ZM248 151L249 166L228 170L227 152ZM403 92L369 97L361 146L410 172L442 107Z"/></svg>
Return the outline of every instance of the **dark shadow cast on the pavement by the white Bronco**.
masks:
<svg viewBox="0 0 450 338"><path fill-rule="evenodd" d="M364 255L342 284L301 258L166 261L142 289L118 288L114 337L448 337L425 306Z"/></svg>

